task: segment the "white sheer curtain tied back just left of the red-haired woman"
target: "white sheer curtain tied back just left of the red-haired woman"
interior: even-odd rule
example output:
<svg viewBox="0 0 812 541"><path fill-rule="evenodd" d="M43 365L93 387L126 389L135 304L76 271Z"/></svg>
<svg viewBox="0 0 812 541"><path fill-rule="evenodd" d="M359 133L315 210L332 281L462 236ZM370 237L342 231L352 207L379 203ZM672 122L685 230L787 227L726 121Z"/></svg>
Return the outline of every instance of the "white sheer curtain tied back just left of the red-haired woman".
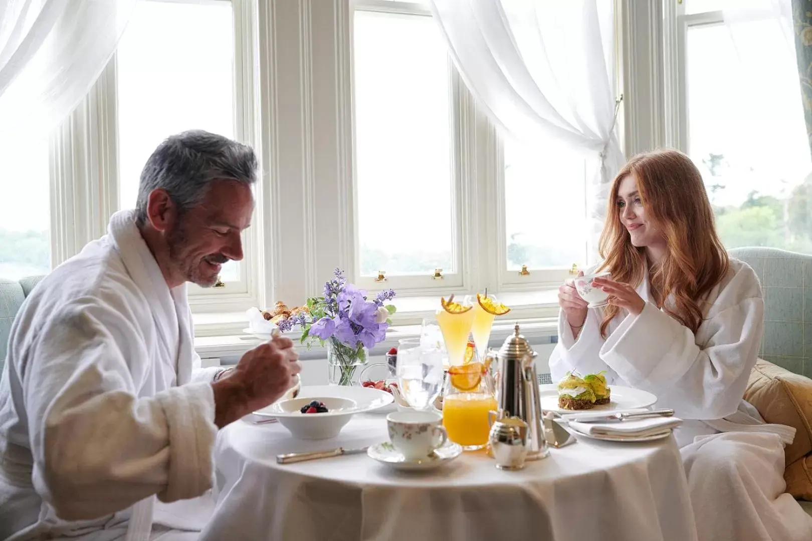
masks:
<svg viewBox="0 0 812 541"><path fill-rule="evenodd" d="M624 165L615 135L611 0L431 0L451 58L504 134L597 158L590 200L603 225Z"/></svg>

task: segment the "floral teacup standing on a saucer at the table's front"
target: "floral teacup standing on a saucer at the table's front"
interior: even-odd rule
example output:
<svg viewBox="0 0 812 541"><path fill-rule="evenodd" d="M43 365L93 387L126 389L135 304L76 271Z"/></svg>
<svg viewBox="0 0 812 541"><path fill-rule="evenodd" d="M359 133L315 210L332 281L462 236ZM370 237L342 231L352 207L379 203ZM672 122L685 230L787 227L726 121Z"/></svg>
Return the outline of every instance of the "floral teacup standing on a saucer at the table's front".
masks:
<svg viewBox="0 0 812 541"><path fill-rule="evenodd" d="M387 415L389 440L406 460L421 460L448 440L442 423L433 411L397 411Z"/></svg>

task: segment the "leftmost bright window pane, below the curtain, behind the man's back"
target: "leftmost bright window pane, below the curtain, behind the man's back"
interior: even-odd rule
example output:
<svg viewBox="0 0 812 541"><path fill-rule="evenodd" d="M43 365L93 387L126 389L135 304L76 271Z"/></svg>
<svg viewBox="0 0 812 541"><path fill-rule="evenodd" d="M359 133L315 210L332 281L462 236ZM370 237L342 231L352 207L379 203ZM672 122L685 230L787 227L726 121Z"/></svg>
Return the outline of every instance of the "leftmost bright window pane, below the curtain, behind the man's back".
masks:
<svg viewBox="0 0 812 541"><path fill-rule="evenodd" d="M0 277L50 271L50 200L47 140L0 144Z"/></svg>

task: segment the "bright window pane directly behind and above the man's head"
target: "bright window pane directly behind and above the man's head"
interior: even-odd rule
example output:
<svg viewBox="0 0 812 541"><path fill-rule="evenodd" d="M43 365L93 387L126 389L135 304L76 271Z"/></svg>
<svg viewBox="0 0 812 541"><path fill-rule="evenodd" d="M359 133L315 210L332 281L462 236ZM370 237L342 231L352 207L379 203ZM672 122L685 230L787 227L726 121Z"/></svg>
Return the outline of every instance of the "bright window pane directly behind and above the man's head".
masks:
<svg viewBox="0 0 812 541"><path fill-rule="evenodd" d="M117 50L122 208L136 204L141 169L167 135L235 136L231 2L136 3ZM222 281L240 280L223 265Z"/></svg>

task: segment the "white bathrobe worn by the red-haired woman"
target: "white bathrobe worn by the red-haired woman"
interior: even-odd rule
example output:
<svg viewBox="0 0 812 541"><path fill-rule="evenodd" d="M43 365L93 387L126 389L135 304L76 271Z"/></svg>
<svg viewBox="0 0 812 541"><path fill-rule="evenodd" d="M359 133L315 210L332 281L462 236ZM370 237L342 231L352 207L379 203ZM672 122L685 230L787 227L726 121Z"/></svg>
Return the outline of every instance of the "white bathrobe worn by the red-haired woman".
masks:
<svg viewBox="0 0 812 541"><path fill-rule="evenodd" d="M646 273L646 276L648 273ZM559 316L553 381L568 371L607 371L607 382L644 389L672 408L700 541L809 541L812 517L784 493L784 444L795 429L765 424L742 397L758 358L764 300L753 269L739 260L701 303L694 334L659 310L648 281L638 316L619 315L603 340L603 308L587 312L577 340Z"/></svg>

